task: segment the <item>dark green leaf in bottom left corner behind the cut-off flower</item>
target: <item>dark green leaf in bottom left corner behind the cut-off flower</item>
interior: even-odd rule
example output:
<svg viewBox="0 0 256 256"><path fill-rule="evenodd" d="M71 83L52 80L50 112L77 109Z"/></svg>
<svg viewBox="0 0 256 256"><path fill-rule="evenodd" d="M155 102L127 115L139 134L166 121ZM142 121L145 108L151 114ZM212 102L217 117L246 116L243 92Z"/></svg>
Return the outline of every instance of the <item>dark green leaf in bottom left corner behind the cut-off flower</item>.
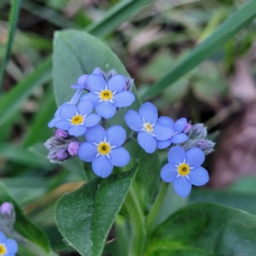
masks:
<svg viewBox="0 0 256 256"><path fill-rule="evenodd" d="M37 244L38 249L44 251L45 256L53 255L51 252L51 246L49 243L49 239L44 234L44 232L37 227L31 220L29 220L28 216L22 212L17 202L15 202L14 198L10 195L3 182L0 181L0 204L3 202L12 202L15 213L16 213L16 221L15 221L15 231L17 231L22 236L26 237L33 243ZM24 246L22 246L24 247ZM28 248L22 248L24 252L28 252ZM21 254L22 256L28 256L28 254ZM29 255L38 256L42 255L42 253L35 254L33 252L29 252Z"/></svg>

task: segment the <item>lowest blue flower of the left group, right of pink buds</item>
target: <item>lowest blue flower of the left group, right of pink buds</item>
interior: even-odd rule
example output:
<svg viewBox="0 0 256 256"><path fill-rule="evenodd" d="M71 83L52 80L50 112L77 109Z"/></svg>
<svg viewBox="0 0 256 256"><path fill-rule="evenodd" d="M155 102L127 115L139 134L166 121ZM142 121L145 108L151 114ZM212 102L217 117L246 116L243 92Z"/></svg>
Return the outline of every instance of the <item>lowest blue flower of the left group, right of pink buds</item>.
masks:
<svg viewBox="0 0 256 256"><path fill-rule="evenodd" d="M102 177L108 177L113 166L125 166L131 157L129 152L120 147L123 145L126 132L120 125L109 127L107 131L100 126L88 128L84 142L79 147L78 155L85 162L92 162L93 172Z"/></svg>

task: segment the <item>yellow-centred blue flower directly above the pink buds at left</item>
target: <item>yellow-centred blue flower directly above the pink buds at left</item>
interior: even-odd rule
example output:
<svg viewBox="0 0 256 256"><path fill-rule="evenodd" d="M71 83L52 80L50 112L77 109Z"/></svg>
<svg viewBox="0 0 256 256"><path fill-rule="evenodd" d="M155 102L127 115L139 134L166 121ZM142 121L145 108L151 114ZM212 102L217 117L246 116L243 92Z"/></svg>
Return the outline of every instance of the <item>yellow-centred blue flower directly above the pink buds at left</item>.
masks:
<svg viewBox="0 0 256 256"><path fill-rule="evenodd" d="M73 136L81 136L86 131L86 127L97 125L100 116L90 114L93 104L90 100L82 100L78 106L72 104L63 104L60 108L60 121L55 122L59 129L68 131Z"/></svg>

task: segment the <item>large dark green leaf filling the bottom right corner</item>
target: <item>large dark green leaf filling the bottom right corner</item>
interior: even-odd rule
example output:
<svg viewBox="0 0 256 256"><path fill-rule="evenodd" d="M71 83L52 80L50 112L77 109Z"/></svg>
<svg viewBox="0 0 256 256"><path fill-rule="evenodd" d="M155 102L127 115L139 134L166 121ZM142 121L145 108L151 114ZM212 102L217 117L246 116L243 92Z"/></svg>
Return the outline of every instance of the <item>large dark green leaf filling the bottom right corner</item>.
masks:
<svg viewBox="0 0 256 256"><path fill-rule="evenodd" d="M198 255L254 255L256 216L217 204L189 205L157 228L150 248L159 241L170 248L189 247L208 253Z"/></svg>

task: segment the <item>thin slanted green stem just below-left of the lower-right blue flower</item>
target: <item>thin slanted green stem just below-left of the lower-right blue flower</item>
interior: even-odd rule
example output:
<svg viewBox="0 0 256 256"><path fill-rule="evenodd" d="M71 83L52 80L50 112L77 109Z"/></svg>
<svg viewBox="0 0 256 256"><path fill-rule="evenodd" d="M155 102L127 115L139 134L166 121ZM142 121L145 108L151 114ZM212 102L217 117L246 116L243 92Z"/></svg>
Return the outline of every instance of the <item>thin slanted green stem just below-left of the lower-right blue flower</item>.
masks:
<svg viewBox="0 0 256 256"><path fill-rule="evenodd" d="M152 208L150 209L150 212L148 213L148 216L147 216L147 220L146 220L147 234L150 234L150 231L152 230L152 225L154 224L154 220L156 220L157 214L159 213L161 205L163 204L164 198L168 191L168 187L169 187L169 183L162 181L159 191L157 193L155 202L152 205Z"/></svg>

